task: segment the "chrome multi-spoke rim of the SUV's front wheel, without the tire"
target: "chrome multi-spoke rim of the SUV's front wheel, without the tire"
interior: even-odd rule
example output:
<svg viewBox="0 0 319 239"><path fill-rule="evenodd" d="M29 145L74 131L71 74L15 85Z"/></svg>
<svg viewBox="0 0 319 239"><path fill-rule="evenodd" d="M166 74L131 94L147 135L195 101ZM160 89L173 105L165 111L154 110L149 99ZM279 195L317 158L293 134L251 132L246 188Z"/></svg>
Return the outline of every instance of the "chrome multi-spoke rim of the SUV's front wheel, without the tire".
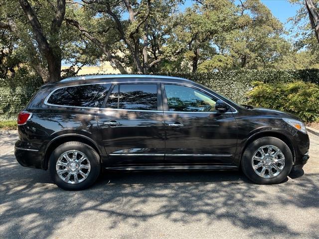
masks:
<svg viewBox="0 0 319 239"><path fill-rule="evenodd" d="M264 145L255 151L251 164L260 177L274 178L285 167L285 155L274 145Z"/></svg>

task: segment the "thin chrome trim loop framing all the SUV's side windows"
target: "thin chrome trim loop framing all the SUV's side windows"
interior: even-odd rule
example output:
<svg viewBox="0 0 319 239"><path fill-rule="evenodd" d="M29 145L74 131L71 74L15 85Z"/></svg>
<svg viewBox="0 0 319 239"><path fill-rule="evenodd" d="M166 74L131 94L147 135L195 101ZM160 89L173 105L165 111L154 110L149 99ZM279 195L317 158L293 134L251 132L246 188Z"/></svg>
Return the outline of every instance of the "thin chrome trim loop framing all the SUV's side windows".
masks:
<svg viewBox="0 0 319 239"><path fill-rule="evenodd" d="M141 77L142 78L142 77ZM86 86L86 85L101 85L101 84L122 84L122 83L133 83L133 84L139 84L139 83L153 83L153 84L157 84L157 83L163 83L163 84L174 84L174 85L184 85L190 88L196 88L199 89L200 91L203 91L205 93L207 93L210 96L213 96L215 98L217 98L218 100L223 101L222 99L220 99L219 97L215 96L214 94L206 91L205 89L202 89L200 87L197 86L193 86L190 84L186 84L186 83L180 83L180 82L154 82L154 81L138 81L138 82L132 82L132 81L123 81L123 82L119 82L119 81L115 81L115 82L103 82L103 83L89 83L89 84L80 84L80 85L76 85L76 86ZM110 109L110 108L97 108L97 107L80 107L80 106L65 106L65 105L55 105L55 104L50 104L47 103L48 99L50 98L50 96L57 90L62 89L62 88L66 88L66 87L75 87L75 86L63 86L63 87L59 87L56 88L55 90L53 90L44 100L44 104L48 105L48 106L57 106L57 107L69 107L69 108L82 108L82 109L93 109L93 110L122 110L122 111L141 111L141 112L163 112L163 113L178 113L178 114L236 114L238 113L237 109L235 109L234 107L232 107L231 105L229 105L228 103L225 104L229 107L231 107L232 109L235 110L235 112L225 112L225 113L219 113L219 112L177 112L177 111L149 111L149 110L126 110L126 109Z"/></svg>

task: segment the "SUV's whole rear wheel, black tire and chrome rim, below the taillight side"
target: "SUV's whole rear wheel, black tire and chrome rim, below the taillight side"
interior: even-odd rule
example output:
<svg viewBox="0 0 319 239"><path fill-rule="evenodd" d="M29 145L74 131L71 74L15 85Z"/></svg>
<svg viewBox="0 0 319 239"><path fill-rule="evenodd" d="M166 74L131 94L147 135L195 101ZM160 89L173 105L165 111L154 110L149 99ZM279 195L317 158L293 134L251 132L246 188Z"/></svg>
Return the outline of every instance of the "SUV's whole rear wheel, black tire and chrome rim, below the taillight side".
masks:
<svg viewBox="0 0 319 239"><path fill-rule="evenodd" d="M53 182L60 188L72 191L83 190L90 187L99 177L101 172L100 156L85 143L66 142L59 145L51 153L48 169ZM60 172L60 176L57 170ZM64 171L65 173L62 174L61 172Z"/></svg>

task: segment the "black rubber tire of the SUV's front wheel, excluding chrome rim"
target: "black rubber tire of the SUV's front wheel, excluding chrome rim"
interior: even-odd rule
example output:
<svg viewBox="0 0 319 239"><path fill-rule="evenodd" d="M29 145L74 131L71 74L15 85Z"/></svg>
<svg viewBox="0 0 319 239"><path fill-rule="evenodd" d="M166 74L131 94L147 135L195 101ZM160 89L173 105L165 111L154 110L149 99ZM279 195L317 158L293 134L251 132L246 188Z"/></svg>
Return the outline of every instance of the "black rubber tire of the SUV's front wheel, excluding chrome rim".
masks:
<svg viewBox="0 0 319 239"><path fill-rule="evenodd" d="M252 167L251 159L255 151L264 145L274 145L278 147L285 156L285 167L279 175L274 178L262 178L257 175ZM251 142L242 156L241 167L244 174L253 182L258 184L277 184L283 182L289 175L293 167L293 154L288 145L276 137L262 137Z"/></svg>

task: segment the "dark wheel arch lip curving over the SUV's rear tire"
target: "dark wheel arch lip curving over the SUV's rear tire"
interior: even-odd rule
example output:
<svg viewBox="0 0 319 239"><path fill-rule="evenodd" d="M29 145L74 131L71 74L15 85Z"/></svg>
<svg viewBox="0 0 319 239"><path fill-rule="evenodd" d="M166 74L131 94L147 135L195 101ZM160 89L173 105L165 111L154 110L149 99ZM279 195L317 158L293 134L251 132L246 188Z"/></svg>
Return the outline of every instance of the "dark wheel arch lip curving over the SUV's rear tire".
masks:
<svg viewBox="0 0 319 239"><path fill-rule="evenodd" d="M69 134L64 134L64 135L59 135L57 137L55 137L54 139L52 139L45 151L44 151L44 160L43 160L43 169L47 170L48 169L48 162L49 162L49 158L51 153L53 152L53 150L58 147L59 145L66 143L66 142L70 142L70 141L78 141L78 142L82 142L85 144L90 145L94 150L97 151L97 153L100 155L102 155L101 150L99 149L98 145L96 142L94 142L94 140L92 140L91 138L85 136L85 135L81 135L81 134L77 134L77 133L69 133Z"/></svg>

